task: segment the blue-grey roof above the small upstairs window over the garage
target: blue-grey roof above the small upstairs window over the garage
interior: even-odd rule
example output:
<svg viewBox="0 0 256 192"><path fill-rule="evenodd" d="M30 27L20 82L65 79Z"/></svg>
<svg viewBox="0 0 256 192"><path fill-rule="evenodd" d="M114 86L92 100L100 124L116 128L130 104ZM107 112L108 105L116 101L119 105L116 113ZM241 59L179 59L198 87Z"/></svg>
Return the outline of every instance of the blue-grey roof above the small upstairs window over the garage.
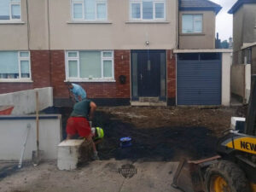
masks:
<svg viewBox="0 0 256 192"><path fill-rule="evenodd" d="M209 0L179 0L180 10L212 10L216 14L222 9L222 7Z"/></svg>

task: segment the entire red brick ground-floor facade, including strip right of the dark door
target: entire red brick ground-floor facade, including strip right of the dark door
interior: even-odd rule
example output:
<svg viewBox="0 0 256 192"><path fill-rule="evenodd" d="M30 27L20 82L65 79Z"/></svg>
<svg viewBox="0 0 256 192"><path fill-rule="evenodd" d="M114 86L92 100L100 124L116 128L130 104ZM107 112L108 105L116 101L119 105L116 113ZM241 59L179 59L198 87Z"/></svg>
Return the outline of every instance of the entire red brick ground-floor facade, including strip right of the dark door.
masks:
<svg viewBox="0 0 256 192"><path fill-rule="evenodd" d="M172 50L166 51L167 57L167 102L176 102L176 58ZM131 51L114 50L115 82L80 82L89 98L94 99L125 99L131 98ZM50 62L49 62L50 61ZM28 90L52 86L55 99L68 99L65 83L65 51L64 50L32 50L31 51L32 83L1 83L0 93ZM121 84L119 76L124 75L125 84Z"/></svg>

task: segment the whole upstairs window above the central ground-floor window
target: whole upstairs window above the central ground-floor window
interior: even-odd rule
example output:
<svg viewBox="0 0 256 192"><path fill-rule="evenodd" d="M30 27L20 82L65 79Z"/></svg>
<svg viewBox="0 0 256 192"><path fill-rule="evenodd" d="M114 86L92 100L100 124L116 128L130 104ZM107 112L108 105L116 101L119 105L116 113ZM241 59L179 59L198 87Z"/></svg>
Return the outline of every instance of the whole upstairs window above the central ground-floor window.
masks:
<svg viewBox="0 0 256 192"><path fill-rule="evenodd" d="M72 0L73 20L107 20L108 0Z"/></svg>

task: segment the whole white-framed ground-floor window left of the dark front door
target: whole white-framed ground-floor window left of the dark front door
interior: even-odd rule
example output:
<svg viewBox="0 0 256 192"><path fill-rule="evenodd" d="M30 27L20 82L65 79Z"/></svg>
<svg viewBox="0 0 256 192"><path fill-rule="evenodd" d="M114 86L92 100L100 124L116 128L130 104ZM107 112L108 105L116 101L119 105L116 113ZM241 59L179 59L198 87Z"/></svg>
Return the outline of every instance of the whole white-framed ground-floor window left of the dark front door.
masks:
<svg viewBox="0 0 256 192"><path fill-rule="evenodd" d="M67 80L113 80L113 51L67 51Z"/></svg>

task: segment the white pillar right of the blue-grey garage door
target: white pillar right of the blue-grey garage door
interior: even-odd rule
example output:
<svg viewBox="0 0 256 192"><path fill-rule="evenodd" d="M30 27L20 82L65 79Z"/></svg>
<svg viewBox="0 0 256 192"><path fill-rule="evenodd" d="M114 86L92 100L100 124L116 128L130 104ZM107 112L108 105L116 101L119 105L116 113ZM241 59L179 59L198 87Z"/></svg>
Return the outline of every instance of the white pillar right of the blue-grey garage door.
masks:
<svg viewBox="0 0 256 192"><path fill-rule="evenodd" d="M231 53L222 53L222 96L221 104L230 106L230 70L232 64Z"/></svg>

